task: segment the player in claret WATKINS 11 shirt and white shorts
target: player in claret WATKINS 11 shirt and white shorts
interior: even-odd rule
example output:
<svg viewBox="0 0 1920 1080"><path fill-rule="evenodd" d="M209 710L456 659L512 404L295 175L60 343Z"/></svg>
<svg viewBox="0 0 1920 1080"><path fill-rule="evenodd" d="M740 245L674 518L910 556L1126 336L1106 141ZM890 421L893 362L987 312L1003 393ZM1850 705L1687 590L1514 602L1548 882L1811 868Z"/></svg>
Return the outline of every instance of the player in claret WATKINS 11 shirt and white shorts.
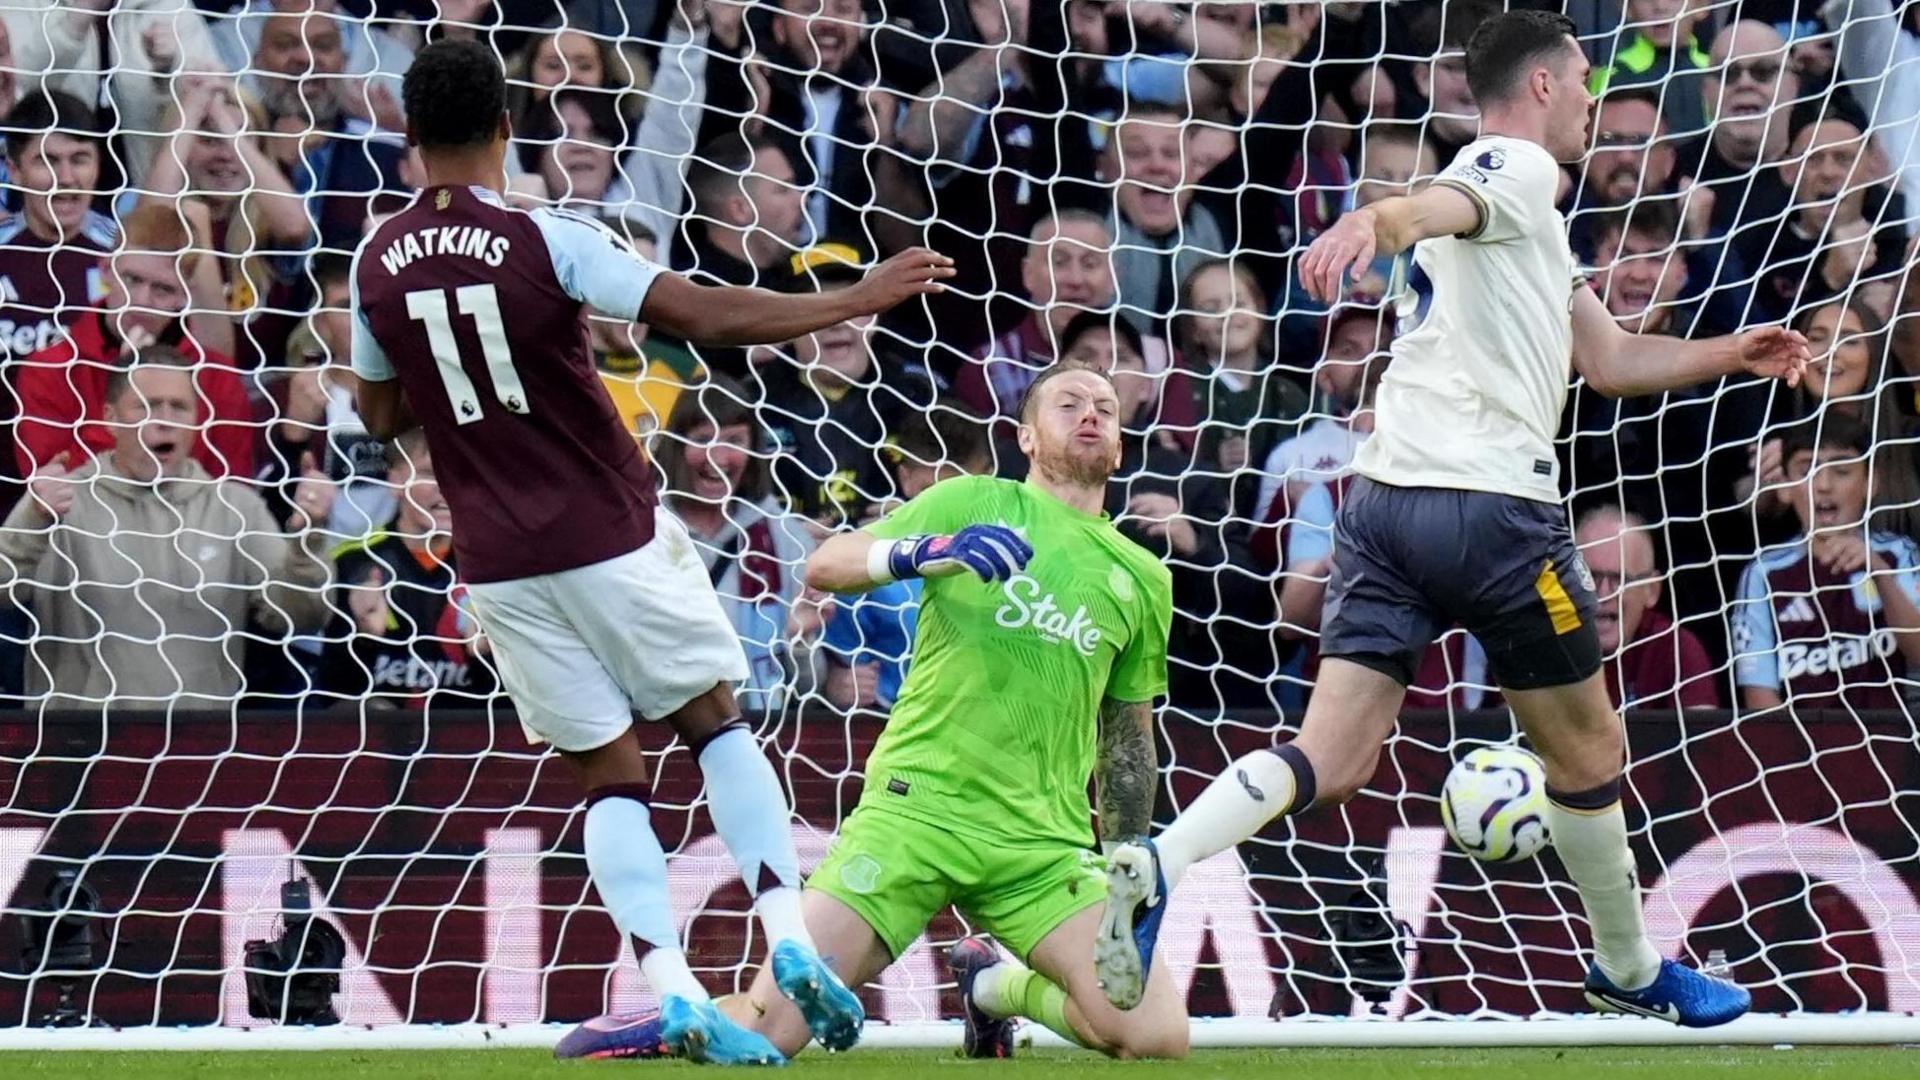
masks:
<svg viewBox="0 0 1920 1080"><path fill-rule="evenodd" d="M860 1036L860 1003L801 919L789 809L733 703L745 655L687 530L657 505L582 309L701 344L787 342L937 292L950 261L902 252L814 296L697 286L591 219L507 208L507 83L488 46L420 50L401 92L426 186L353 256L361 419L376 438L426 429L472 609L530 740L580 773L588 869L660 994L668 1047L695 1061L781 1059L714 1009L680 951L636 711L693 748L778 986L816 1038L845 1049Z"/></svg>

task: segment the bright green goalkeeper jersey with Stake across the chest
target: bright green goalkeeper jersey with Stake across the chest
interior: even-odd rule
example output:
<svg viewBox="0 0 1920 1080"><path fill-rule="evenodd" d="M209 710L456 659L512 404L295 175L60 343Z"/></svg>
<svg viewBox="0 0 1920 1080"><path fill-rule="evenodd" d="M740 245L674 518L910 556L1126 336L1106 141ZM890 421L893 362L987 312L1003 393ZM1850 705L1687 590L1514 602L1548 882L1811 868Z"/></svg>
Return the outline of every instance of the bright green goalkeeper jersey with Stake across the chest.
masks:
<svg viewBox="0 0 1920 1080"><path fill-rule="evenodd" d="M943 480L868 530L1006 525L1033 561L1006 582L925 580L914 663L860 803L1004 844L1092 844L1100 698L1167 690L1173 575L1106 515L1016 480Z"/></svg>

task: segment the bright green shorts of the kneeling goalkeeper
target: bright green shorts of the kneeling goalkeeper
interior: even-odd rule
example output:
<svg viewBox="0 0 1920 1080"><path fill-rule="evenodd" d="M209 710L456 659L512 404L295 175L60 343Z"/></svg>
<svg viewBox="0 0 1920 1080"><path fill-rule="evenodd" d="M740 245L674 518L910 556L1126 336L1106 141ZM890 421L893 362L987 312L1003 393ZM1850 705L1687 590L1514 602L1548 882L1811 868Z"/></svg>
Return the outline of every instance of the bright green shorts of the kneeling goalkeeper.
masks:
<svg viewBox="0 0 1920 1080"><path fill-rule="evenodd" d="M895 957L954 905L1025 961L1054 926L1106 899L1106 865L1085 847L1008 847L860 807L806 888L854 909Z"/></svg>

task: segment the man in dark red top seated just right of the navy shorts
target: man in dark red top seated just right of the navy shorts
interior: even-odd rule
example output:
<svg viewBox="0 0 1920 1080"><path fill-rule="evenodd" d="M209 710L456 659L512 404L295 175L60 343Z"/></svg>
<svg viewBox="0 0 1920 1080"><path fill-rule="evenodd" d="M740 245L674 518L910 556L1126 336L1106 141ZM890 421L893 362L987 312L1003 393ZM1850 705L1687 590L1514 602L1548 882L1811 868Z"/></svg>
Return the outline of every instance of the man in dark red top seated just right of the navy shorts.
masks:
<svg viewBox="0 0 1920 1080"><path fill-rule="evenodd" d="M1599 655L1620 709L1718 709L1707 646L1659 609L1661 571L1653 536L1638 515L1601 505L1580 515L1574 546L1594 571Z"/></svg>

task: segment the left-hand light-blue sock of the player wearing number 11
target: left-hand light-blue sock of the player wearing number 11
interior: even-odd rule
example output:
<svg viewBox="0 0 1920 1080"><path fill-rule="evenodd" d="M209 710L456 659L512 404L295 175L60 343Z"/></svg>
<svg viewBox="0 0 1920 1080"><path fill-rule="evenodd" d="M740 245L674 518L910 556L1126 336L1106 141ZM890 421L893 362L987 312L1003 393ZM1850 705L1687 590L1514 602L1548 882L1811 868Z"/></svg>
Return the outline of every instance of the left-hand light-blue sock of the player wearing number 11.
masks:
<svg viewBox="0 0 1920 1080"><path fill-rule="evenodd" d="M639 970L657 994L705 1001L674 932L674 909L666 897L666 851L653 834L647 803L634 796L597 796L588 807L588 874L612 915L612 924L634 938Z"/></svg>

